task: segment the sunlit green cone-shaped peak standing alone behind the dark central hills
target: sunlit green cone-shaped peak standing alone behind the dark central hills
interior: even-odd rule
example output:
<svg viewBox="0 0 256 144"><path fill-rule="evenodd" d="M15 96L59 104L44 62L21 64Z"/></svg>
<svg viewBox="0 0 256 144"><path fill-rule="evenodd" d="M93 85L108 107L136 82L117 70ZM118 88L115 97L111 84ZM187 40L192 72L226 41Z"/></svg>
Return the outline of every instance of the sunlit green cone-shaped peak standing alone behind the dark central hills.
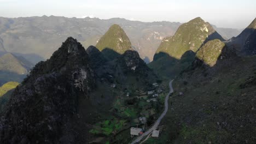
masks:
<svg viewBox="0 0 256 144"><path fill-rule="evenodd" d="M127 50L132 50L129 38L119 25L112 25L98 41L96 47L109 58L113 58L114 56L109 50L113 50L120 55ZM106 51L104 49L108 50Z"/></svg>

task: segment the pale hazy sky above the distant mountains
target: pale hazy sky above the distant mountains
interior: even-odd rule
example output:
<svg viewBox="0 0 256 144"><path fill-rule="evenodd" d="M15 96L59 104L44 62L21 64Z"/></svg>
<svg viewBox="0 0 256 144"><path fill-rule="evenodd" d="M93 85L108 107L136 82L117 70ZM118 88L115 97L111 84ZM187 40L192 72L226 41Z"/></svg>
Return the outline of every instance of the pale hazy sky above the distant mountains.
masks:
<svg viewBox="0 0 256 144"><path fill-rule="evenodd" d="M256 0L0 0L0 16L122 17L187 22L195 17L218 27L245 28L256 17Z"/></svg>

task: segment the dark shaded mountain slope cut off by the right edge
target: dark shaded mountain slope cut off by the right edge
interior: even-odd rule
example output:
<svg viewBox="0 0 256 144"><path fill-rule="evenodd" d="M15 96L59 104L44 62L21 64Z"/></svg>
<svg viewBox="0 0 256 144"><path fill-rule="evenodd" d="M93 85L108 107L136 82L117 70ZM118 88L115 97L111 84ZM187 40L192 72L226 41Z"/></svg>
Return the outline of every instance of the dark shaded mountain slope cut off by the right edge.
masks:
<svg viewBox="0 0 256 144"><path fill-rule="evenodd" d="M242 31L237 37L231 38L225 43L236 49L238 55L255 55L256 54L256 19Z"/></svg>

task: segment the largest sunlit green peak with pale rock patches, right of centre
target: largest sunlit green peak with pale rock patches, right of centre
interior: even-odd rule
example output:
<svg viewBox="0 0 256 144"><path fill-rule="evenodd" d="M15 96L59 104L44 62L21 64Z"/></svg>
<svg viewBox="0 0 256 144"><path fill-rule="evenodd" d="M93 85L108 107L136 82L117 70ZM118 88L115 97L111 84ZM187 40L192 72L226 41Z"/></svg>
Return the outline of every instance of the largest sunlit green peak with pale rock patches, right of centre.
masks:
<svg viewBox="0 0 256 144"><path fill-rule="evenodd" d="M181 25L173 37L166 38L160 44L154 60L158 58L157 53L165 52L173 58L180 59L186 51L196 52L208 40L224 40L210 25L197 17Z"/></svg>

